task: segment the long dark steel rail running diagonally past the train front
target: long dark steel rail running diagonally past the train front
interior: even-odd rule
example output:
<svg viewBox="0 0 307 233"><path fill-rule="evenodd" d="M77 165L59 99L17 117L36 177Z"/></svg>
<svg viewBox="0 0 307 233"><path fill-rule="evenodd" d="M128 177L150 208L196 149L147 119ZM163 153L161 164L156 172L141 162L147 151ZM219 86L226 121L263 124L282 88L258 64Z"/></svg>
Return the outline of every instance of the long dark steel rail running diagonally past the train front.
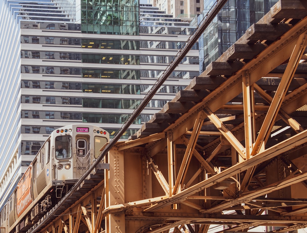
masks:
<svg viewBox="0 0 307 233"><path fill-rule="evenodd" d="M138 117L138 115L142 112L142 110L149 103L151 98L156 94L161 85L165 82L165 80L169 77L169 75L174 71L177 65L181 62L181 60L185 57L185 55L190 51L192 46L198 40L200 35L204 32L204 30L208 27L208 25L212 22L213 18L218 14L218 12L222 9L227 0L216 0L216 5L212 6L209 12L204 16L203 20L196 27L192 35L188 38L185 45L179 52L176 57L170 62L168 67L164 70L162 75L157 79L157 82L153 85L150 91L146 94L145 98L141 101L140 105L133 111L127 121L122 125L119 131L115 134L115 136L111 139L111 141L105 146L103 151L100 153L99 157L94 161L91 167L84 173L80 179L74 184L74 186L70 189L70 191L60 200L60 202L49 212L49 217L52 216L63 204L68 197L71 196L82 184L85 178L90 175L91 171L99 164L99 162L103 159L103 157L111 150L111 148L115 145L115 143L120 139L122 134L129 128L129 126L134 122L134 120ZM44 218L40 221L38 226L34 227L32 231L27 231L27 233L35 233L40 229L40 226L44 224L48 218ZM36 223L37 224L37 223Z"/></svg>

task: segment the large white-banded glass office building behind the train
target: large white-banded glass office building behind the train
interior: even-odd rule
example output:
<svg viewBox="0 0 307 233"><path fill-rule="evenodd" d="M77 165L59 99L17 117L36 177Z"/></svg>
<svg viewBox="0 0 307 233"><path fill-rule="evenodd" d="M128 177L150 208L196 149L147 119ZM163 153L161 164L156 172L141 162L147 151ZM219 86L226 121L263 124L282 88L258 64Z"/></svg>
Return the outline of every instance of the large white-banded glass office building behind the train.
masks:
<svg viewBox="0 0 307 233"><path fill-rule="evenodd" d="M138 1L1 1L0 209L49 134L74 122L111 137L194 27ZM198 45L122 135L199 75Z"/></svg>

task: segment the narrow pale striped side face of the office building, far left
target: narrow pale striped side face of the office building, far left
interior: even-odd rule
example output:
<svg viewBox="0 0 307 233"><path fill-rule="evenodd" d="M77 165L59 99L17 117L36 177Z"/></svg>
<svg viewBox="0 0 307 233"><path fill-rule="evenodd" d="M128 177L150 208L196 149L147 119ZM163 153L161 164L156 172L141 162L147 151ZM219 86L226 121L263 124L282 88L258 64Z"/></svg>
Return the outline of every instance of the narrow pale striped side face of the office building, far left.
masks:
<svg viewBox="0 0 307 233"><path fill-rule="evenodd" d="M5 1L0 1L0 44L1 209L21 174L20 28Z"/></svg>

